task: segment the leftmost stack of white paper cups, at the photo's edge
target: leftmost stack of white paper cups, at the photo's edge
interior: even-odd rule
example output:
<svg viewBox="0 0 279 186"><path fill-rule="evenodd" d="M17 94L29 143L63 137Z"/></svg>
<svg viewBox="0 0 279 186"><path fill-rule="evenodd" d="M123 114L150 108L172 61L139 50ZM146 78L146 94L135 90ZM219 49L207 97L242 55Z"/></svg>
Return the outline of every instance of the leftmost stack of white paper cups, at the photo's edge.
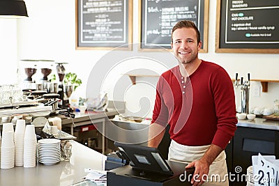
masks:
<svg viewBox="0 0 279 186"><path fill-rule="evenodd" d="M3 132L1 143L1 169L10 169L15 166L15 142L13 132Z"/></svg>

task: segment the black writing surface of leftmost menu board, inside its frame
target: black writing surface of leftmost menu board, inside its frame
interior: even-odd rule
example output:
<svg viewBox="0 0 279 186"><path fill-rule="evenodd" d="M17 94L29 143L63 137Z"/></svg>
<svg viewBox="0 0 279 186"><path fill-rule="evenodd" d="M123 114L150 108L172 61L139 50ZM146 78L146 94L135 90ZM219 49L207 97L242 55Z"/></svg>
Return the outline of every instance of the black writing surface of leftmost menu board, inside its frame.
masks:
<svg viewBox="0 0 279 186"><path fill-rule="evenodd" d="M81 46L127 42L126 1L80 0L78 8Z"/></svg>

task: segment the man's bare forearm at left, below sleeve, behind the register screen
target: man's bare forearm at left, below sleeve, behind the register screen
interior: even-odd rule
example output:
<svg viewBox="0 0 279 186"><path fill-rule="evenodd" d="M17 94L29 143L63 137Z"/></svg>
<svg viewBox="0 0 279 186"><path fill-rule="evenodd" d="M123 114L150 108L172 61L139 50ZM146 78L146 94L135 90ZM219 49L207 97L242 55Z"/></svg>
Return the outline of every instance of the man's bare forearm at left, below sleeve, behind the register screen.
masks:
<svg viewBox="0 0 279 186"><path fill-rule="evenodd" d="M148 146L158 148L165 134L165 127L157 123L152 123L149 126L149 141Z"/></svg>

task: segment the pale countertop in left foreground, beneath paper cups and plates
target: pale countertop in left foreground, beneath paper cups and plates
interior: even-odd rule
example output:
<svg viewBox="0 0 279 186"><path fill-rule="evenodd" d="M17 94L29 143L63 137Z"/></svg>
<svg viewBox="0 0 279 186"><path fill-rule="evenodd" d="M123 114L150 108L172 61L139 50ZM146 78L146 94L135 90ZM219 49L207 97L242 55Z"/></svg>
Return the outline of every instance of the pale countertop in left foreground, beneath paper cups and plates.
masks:
<svg viewBox="0 0 279 186"><path fill-rule="evenodd" d="M15 166L12 169L0 169L0 185L73 185L82 181L87 173L84 168L102 170L107 157L77 141L73 145L70 162L54 165L37 163L34 168Z"/></svg>

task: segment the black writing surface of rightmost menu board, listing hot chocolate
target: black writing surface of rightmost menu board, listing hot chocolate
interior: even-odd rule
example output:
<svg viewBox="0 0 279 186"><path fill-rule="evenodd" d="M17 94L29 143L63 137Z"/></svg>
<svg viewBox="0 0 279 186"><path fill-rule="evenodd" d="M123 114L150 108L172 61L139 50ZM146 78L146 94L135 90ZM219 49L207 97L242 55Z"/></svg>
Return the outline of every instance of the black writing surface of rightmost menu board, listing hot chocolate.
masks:
<svg viewBox="0 0 279 186"><path fill-rule="evenodd" d="M226 0L225 43L279 43L278 0Z"/></svg>

